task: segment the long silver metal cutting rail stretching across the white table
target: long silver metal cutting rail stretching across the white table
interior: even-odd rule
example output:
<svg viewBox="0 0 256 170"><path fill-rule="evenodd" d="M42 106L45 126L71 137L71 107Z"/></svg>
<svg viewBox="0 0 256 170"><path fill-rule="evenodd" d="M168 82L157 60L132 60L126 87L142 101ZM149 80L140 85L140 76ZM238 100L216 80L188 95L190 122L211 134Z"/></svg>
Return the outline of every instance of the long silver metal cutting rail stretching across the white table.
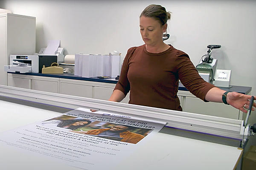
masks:
<svg viewBox="0 0 256 170"><path fill-rule="evenodd" d="M166 126L168 127L206 133L240 141L243 140L243 135L241 134L244 133L240 134L240 132L244 130L243 120L110 102L4 85L0 85L0 96L45 105L53 105L61 108L90 108L111 113L125 114L126 116L136 116L143 119L154 119L156 121L167 122ZM247 136L245 136L245 138L247 138Z"/></svg>

